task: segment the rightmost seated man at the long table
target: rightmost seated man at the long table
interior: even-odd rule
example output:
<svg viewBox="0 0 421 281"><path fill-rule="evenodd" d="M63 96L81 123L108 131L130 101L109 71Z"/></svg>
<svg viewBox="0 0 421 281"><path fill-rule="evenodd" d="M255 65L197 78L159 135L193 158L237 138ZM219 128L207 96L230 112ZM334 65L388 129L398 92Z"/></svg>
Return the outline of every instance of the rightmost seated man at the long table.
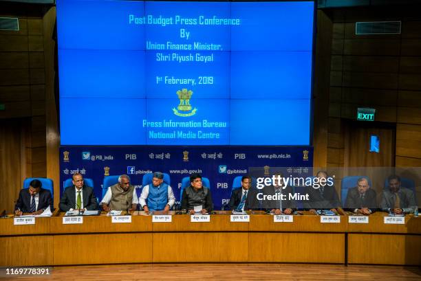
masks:
<svg viewBox="0 0 421 281"><path fill-rule="evenodd" d="M409 188L400 186L400 177L392 175L387 179L389 188L382 194L380 207L383 212L393 214L411 214L415 210L415 194Z"/></svg>

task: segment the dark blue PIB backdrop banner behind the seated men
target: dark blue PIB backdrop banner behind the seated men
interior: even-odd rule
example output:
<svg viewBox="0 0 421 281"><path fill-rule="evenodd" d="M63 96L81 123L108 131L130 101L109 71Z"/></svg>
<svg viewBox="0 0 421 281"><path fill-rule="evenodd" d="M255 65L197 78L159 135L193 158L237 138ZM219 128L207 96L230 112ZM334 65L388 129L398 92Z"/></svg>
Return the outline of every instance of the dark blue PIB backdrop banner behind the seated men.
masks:
<svg viewBox="0 0 421 281"><path fill-rule="evenodd" d="M60 186L62 193L65 180L80 172L93 179L95 194L102 199L104 178L127 174L140 195L142 177L160 171L169 174L180 201L182 179L199 172L209 179L214 208L220 210L230 199L235 177L248 174L250 168L266 166L271 176L277 171L270 167L310 168L312 163L311 146L62 146Z"/></svg>

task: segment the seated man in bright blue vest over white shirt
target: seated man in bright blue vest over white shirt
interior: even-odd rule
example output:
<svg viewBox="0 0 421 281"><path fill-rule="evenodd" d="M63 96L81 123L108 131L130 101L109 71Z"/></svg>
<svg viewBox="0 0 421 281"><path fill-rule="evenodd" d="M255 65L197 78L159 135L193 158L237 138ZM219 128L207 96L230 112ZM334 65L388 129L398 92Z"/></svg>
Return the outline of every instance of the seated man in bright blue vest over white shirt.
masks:
<svg viewBox="0 0 421 281"><path fill-rule="evenodd" d="M154 172L152 184L144 186L140 194L140 207L145 212L164 211L168 212L175 203L173 189L168 183L164 183L164 174Z"/></svg>

